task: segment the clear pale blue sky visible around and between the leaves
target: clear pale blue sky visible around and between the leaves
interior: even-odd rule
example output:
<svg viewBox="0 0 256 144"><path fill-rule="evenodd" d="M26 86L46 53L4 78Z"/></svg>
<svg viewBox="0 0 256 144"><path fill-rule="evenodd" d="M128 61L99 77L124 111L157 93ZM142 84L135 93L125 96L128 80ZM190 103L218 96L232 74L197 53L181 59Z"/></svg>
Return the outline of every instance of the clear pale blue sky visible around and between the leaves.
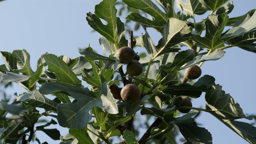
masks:
<svg viewBox="0 0 256 144"><path fill-rule="evenodd" d="M92 32L92 28L86 21L86 13L94 13L94 6L99 2L101 0L6 0L0 2L0 51L12 52L26 49L30 54L33 70L36 70L37 60L46 52L76 58L81 56L78 48L85 48L90 43L96 52L104 54L98 42L100 34ZM230 18L244 15L256 8L255 0L233 0L233 2L234 10L229 14ZM199 21L201 18L205 17L197 16L196 20ZM123 18L122 21L124 22ZM142 28L136 31L135 35L138 36L141 33L144 33ZM150 30L150 34L152 36L154 34L152 38L157 45L160 34L154 30ZM134 50L140 52L141 49ZM225 51L225 56L220 60L204 63L201 67L202 75L214 76L216 84L220 84L226 93L230 93L246 115L255 115L256 54L237 47ZM0 64L4 64L2 58L0 58ZM26 90L14 85L7 92L21 94ZM194 107L204 108L204 93L200 98L192 100L192 103ZM206 112L202 112L196 122L211 132L214 144L246 143L222 122ZM51 125L52 127L55 126ZM61 135L68 132L66 128L57 128ZM49 139L47 140L49 144L56 143L50 141L44 133L40 133L38 138L41 142Z"/></svg>

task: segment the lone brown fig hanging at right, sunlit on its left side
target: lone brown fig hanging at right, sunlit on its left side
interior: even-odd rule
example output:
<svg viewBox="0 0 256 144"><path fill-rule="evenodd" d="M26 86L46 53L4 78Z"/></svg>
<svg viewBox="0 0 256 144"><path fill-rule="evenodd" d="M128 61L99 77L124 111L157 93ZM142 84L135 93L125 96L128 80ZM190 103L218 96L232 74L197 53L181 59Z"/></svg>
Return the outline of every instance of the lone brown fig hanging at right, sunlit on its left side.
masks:
<svg viewBox="0 0 256 144"><path fill-rule="evenodd" d="M187 78L188 80L195 80L199 78L201 74L202 74L201 68L197 65L193 65L186 68L184 72L184 77Z"/></svg>

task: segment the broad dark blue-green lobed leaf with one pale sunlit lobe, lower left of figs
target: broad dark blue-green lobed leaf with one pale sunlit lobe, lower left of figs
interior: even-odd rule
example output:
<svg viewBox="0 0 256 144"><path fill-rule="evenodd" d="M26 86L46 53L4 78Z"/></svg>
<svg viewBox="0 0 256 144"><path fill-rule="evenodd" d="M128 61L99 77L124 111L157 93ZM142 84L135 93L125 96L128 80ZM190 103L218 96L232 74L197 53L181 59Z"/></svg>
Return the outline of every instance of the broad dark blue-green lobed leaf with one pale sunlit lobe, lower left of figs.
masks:
<svg viewBox="0 0 256 144"><path fill-rule="evenodd" d="M103 108L110 114L118 113L116 102L106 82L100 86L99 98L90 92L88 88L61 82L44 84L39 91L42 94L65 92L78 100L72 104L58 104L58 122L63 127L84 128L92 118L92 108L94 106Z"/></svg>

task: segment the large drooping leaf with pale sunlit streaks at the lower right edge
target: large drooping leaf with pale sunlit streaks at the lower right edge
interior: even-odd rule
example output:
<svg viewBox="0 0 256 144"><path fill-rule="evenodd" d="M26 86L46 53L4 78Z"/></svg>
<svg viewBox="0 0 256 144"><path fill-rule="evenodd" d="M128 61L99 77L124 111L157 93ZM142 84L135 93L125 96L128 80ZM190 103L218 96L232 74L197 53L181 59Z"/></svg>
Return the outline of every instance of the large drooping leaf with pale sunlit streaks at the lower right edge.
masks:
<svg viewBox="0 0 256 144"><path fill-rule="evenodd" d="M211 86L206 91L205 99L206 110L208 110L210 114L214 115L218 120L223 122L228 128L236 132L236 134L246 141L251 144L256 143L255 132L250 132L250 130L255 128L248 126L249 124L234 121L239 118L246 118L249 120L252 120L252 118L244 115L239 104L229 94L225 94L222 90L222 86Z"/></svg>

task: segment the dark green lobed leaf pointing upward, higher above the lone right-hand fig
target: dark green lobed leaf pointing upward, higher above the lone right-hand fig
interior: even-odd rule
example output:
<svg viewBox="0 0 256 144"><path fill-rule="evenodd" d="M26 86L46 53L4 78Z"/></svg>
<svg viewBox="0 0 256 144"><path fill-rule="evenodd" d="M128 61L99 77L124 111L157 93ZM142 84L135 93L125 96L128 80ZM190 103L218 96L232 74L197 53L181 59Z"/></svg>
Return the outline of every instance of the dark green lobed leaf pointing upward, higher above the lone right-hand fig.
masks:
<svg viewBox="0 0 256 144"><path fill-rule="evenodd" d="M200 35L192 36L196 44L208 49L216 49L222 44L224 40L220 39L220 36L228 22L227 12L221 15L209 15L206 19L206 34L204 37Z"/></svg>

